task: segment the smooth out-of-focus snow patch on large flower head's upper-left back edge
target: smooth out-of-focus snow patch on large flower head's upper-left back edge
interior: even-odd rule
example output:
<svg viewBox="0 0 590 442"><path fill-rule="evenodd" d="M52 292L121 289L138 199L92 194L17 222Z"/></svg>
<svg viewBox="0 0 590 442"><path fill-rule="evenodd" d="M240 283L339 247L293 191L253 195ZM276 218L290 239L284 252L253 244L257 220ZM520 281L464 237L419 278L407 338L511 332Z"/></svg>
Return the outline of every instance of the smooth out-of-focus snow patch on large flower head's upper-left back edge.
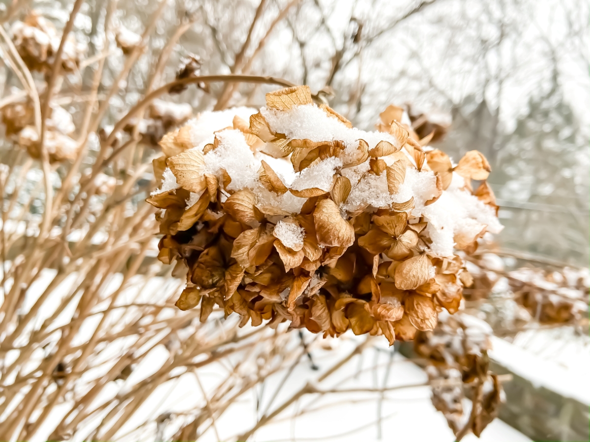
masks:
<svg viewBox="0 0 590 442"><path fill-rule="evenodd" d="M234 117L238 116L250 121L250 116L258 111L251 107L234 107L224 111L202 112L196 118L188 121L191 127L191 142L193 146L213 143L215 131L226 127L233 127Z"/></svg>

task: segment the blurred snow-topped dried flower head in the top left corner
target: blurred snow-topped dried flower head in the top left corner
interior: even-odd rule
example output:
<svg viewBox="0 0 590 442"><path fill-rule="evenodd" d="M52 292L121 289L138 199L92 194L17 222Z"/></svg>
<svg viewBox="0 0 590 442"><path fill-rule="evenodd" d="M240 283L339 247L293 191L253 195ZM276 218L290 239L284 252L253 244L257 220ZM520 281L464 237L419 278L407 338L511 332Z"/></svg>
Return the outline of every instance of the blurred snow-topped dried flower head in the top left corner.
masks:
<svg viewBox="0 0 590 442"><path fill-rule="evenodd" d="M31 71L50 72L61 41L53 23L32 11L24 21L14 22L11 31L14 45L27 67ZM64 72L77 71L84 52L86 45L76 41L73 35L68 36L61 54Z"/></svg>

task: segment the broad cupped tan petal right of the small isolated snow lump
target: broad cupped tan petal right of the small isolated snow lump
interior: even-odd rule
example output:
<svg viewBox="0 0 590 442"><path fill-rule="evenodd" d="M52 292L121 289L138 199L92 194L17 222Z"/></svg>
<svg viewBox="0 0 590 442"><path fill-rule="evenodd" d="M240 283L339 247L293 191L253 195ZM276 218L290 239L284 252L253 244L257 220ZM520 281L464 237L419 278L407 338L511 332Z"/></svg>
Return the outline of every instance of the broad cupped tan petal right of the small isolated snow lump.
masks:
<svg viewBox="0 0 590 442"><path fill-rule="evenodd" d="M338 206L332 200L324 199L317 203L313 219L320 244L350 247L355 242L355 229L342 218Z"/></svg>

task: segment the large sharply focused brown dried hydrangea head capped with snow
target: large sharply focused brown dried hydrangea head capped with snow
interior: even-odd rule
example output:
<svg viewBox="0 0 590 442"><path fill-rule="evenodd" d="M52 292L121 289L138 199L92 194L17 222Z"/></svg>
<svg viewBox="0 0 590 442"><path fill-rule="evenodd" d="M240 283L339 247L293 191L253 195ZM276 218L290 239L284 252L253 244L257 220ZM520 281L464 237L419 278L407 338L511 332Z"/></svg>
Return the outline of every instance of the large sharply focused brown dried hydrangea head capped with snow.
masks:
<svg viewBox="0 0 590 442"><path fill-rule="evenodd" d="M359 130L302 86L166 134L148 202L160 209L159 259L186 276L176 305L391 344L456 312L455 248L501 229L493 195L471 190L489 164L427 151L401 118L391 106L379 131Z"/></svg>

